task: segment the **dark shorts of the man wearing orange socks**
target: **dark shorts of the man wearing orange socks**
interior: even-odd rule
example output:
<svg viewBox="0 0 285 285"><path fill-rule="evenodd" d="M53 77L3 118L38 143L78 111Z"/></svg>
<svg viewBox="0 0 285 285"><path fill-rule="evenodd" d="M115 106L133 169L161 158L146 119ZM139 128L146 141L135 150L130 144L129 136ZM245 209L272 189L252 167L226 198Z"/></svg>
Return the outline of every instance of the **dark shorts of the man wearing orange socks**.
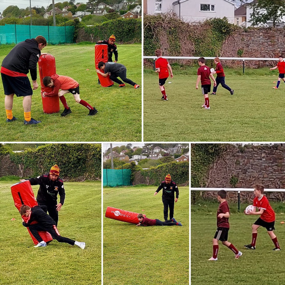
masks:
<svg viewBox="0 0 285 285"><path fill-rule="evenodd" d="M30 80L27 76L9 76L1 73L5 95L16 94L17 97L33 95Z"/></svg>

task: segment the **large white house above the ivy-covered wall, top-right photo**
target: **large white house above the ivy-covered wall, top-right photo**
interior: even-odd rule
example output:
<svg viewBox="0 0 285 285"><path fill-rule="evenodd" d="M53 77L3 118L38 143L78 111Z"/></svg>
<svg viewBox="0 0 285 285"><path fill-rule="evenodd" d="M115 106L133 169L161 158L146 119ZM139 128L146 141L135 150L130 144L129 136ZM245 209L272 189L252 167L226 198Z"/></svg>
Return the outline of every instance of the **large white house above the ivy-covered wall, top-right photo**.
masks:
<svg viewBox="0 0 285 285"><path fill-rule="evenodd" d="M234 23L235 4L230 0L144 0L144 14L168 11L174 11L185 22L227 17L230 23Z"/></svg>

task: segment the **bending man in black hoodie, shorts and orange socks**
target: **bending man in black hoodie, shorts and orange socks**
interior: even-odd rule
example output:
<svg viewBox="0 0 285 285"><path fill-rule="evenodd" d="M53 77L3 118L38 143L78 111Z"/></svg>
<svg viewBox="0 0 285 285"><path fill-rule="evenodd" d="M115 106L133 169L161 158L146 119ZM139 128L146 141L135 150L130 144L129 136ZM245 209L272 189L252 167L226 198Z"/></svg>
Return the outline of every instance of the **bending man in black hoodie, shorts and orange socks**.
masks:
<svg viewBox="0 0 285 285"><path fill-rule="evenodd" d="M36 90L38 88L36 82L37 63L41 55L41 50L45 46L46 39L43 36L27 39L14 46L3 59L0 72L5 94L7 123L17 119L12 114L14 94L17 97L23 96L24 124L40 123L40 121L31 118L33 91L27 74L30 70L33 90Z"/></svg>

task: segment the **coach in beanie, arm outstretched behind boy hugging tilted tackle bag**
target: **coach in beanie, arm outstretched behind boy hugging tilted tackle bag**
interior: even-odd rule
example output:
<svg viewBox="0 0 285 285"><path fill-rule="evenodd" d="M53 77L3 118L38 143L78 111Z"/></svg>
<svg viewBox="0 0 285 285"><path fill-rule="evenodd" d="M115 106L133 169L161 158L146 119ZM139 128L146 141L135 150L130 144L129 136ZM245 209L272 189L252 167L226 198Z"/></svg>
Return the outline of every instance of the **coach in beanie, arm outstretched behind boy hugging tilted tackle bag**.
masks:
<svg viewBox="0 0 285 285"><path fill-rule="evenodd" d="M48 214L56 225L58 223L58 211L60 211L65 199L63 181L58 176L59 167L55 164L50 169L49 174L28 179L31 185L40 185L36 200L40 206L45 205L47 207ZM60 196L59 203L57 203L57 194Z"/></svg>

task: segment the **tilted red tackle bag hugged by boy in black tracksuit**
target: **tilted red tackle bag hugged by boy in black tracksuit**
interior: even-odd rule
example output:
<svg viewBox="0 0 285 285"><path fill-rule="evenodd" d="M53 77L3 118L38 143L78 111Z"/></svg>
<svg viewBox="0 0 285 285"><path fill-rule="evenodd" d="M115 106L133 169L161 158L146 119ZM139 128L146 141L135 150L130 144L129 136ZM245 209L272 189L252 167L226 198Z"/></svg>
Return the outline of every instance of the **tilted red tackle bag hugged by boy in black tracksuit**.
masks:
<svg viewBox="0 0 285 285"><path fill-rule="evenodd" d="M21 181L16 184L13 184L11 186L11 192L12 192L12 196L14 199L15 207L18 209L19 212L20 212L20 207L22 205L28 205L31 208L38 205L29 180L25 180L25 181ZM27 222L28 217L23 215L22 218L24 219L25 222ZM34 223L37 223L37 222L34 221L31 224L34 224ZM34 238L29 228L27 229L28 229L28 232L34 244L37 245L38 241ZM45 242L52 241L52 236L50 235L50 233L45 232L45 231L39 231L38 233Z"/></svg>

